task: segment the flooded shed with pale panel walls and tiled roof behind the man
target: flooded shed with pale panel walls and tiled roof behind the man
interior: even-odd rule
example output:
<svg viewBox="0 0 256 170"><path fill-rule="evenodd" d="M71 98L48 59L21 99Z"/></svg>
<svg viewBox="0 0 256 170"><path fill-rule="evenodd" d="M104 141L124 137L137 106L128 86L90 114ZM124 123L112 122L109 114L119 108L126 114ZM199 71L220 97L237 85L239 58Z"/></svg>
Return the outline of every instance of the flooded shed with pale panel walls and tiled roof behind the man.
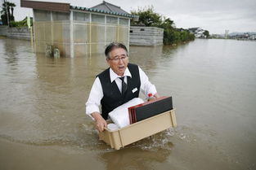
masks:
<svg viewBox="0 0 256 170"><path fill-rule="evenodd" d="M51 45L70 57L102 54L112 41L128 46L130 19L137 17L105 1L90 8L24 0L20 6L33 8L35 50Z"/></svg>

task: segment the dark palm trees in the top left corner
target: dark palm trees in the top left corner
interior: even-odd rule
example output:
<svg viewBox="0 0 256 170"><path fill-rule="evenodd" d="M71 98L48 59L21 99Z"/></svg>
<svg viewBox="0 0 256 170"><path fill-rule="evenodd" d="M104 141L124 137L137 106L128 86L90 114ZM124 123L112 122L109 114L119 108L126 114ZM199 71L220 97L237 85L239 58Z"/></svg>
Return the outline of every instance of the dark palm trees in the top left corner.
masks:
<svg viewBox="0 0 256 170"><path fill-rule="evenodd" d="M1 11L1 19L2 24L10 24L11 21L14 21L14 7L16 7L16 4L13 2L5 1L2 3L2 11ZM11 10L11 11L10 11Z"/></svg>

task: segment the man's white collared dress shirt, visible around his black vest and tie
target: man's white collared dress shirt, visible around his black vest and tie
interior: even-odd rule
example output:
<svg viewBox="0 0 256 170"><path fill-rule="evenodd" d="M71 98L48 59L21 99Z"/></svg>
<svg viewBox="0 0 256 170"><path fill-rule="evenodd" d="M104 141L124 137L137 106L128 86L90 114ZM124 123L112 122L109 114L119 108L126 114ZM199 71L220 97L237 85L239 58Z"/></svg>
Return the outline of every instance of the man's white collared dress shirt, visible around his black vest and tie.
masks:
<svg viewBox="0 0 256 170"><path fill-rule="evenodd" d="M148 77L146 76L145 72L141 70L139 67L139 75L141 79L141 92L148 96L148 94L156 94L155 85L152 85L150 81L148 80ZM131 72L128 68L126 68L124 72L124 82L127 84L127 76L132 77ZM111 68L110 68L110 81L111 83L115 81L116 85L118 86L120 92L122 92L122 81L119 79L119 77ZM99 112L100 113L100 105L101 105L101 98L103 98L103 90L101 87L101 81L99 77L97 77L92 85L92 89L88 98L88 101L85 103L86 105L86 114L88 116L91 116L93 112ZM91 116L92 117L92 116Z"/></svg>

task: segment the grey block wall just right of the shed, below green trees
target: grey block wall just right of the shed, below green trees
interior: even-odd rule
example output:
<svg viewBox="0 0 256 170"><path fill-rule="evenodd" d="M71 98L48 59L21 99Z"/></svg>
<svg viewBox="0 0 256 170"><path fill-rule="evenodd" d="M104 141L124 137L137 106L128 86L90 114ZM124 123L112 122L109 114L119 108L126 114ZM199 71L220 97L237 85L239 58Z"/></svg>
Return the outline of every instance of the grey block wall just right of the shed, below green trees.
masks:
<svg viewBox="0 0 256 170"><path fill-rule="evenodd" d="M130 27L130 46L163 45L164 29L156 27Z"/></svg>

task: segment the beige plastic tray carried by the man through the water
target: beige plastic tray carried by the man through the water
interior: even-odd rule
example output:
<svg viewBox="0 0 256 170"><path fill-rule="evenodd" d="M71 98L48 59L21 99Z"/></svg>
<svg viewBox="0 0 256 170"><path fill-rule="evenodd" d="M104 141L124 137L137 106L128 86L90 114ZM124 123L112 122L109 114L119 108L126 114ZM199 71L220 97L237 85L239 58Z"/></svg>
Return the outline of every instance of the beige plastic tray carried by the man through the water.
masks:
<svg viewBox="0 0 256 170"><path fill-rule="evenodd" d="M176 116L173 109L146 120L141 120L135 124L130 124L122 129L114 131L105 129L103 132L99 133L99 137L100 140L109 144L111 148L119 150L120 147L127 146L132 142L137 142L142 138L149 137L155 133L176 126Z"/></svg>

